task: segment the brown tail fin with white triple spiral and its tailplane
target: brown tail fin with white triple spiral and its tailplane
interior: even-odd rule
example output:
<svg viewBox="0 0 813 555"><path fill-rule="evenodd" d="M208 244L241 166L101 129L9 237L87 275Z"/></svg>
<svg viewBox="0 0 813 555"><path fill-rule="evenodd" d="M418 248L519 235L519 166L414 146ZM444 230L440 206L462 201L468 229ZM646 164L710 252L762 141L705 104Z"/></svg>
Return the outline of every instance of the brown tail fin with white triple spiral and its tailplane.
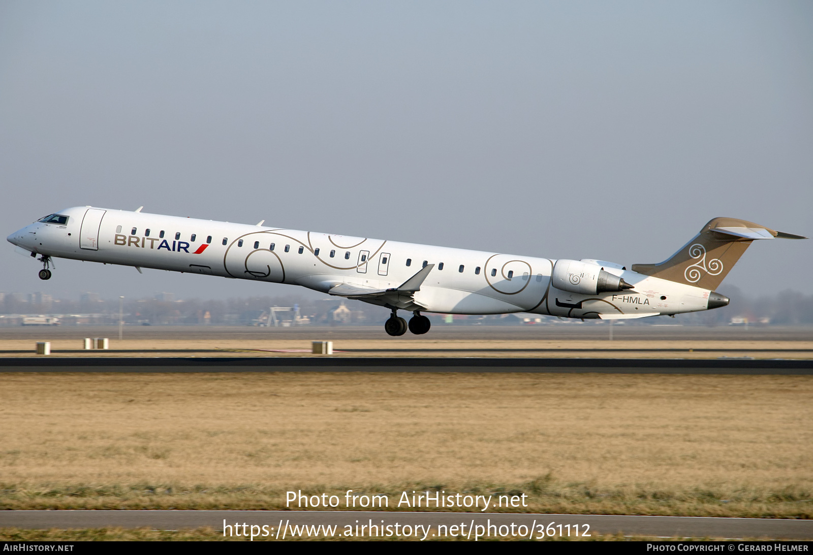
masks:
<svg viewBox="0 0 813 555"><path fill-rule="evenodd" d="M659 264L633 264L633 271L713 291L756 239L806 239L744 219L715 218L692 241Z"/></svg>

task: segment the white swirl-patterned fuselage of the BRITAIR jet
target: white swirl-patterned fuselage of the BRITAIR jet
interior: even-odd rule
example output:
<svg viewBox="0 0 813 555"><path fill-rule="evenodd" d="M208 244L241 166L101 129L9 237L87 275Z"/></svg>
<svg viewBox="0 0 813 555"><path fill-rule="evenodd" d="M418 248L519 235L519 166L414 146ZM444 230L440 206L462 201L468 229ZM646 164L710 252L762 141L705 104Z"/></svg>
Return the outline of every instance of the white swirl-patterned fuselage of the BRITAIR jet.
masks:
<svg viewBox="0 0 813 555"><path fill-rule="evenodd" d="M582 261L582 266L600 267L631 288L580 293L571 285L563 286L571 290L557 287L561 284L554 283L551 276L558 261L552 258L90 206L70 208L58 215L67 219L32 223L11 234L8 241L46 260L72 258L268 281L322 293L333 290L333 294L339 294L335 288L343 285L357 288L358 293L344 297L415 313L529 312L580 319L640 318L706 310L713 293L610 262ZM434 267L418 290L408 294L396 291L428 264ZM579 277L571 273L568 279ZM376 297L364 293L367 290L391 293Z"/></svg>

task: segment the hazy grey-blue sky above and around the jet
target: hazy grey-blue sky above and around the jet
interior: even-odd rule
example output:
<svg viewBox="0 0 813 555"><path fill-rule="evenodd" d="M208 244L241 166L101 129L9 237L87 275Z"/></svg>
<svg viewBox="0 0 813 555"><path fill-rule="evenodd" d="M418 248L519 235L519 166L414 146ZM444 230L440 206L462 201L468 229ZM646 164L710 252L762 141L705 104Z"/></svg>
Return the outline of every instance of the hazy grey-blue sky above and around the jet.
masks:
<svg viewBox="0 0 813 555"><path fill-rule="evenodd" d="M0 2L0 235L68 206L660 262L813 235L813 2ZM298 288L0 249L0 291ZM720 286L813 293L813 241Z"/></svg>

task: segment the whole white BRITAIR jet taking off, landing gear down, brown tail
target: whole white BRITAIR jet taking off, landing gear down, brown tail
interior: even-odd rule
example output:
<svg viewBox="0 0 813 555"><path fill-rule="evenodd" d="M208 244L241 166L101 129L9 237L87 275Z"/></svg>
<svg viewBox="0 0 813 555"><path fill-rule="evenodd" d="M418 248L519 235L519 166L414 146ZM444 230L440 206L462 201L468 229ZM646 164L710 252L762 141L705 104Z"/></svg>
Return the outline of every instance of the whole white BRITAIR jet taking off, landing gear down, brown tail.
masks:
<svg viewBox="0 0 813 555"><path fill-rule="evenodd" d="M263 220L264 222L264 220ZM123 266L302 285L392 310L390 336L429 331L422 312L529 312L631 319L728 305L715 293L757 239L805 239L741 219L715 218L672 257L628 270L602 260L554 260L82 206L8 236L42 262L74 258ZM413 314L407 325L398 310Z"/></svg>

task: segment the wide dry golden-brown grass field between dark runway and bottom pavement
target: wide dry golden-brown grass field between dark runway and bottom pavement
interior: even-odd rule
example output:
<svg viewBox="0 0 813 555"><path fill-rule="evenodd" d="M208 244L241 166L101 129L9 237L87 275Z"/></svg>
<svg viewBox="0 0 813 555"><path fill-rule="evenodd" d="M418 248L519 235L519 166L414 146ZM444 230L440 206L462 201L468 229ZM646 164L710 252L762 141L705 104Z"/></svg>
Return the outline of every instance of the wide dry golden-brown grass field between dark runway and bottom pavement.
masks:
<svg viewBox="0 0 813 555"><path fill-rule="evenodd" d="M524 491L534 512L804 518L811 393L769 375L4 374L0 509L272 509L300 488L393 507L439 486Z"/></svg>

